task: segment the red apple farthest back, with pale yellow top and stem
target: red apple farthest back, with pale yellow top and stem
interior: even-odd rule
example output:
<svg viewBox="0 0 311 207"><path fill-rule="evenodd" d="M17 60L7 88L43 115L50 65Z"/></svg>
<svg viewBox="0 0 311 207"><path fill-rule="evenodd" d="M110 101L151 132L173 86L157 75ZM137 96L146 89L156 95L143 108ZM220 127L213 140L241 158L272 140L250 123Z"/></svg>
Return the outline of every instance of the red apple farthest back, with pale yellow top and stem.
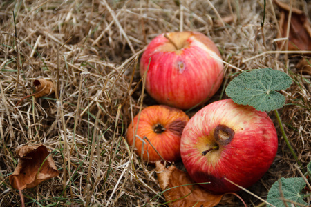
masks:
<svg viewBox="0 0 311 207"><path fill-rule="evenodd" d="M223 81L223 63L215 43L200 32L170 32L153 39L140 59L146 90L168 106L188 109L211 98ZM213 56L213 57L211 57Z"/></svg>

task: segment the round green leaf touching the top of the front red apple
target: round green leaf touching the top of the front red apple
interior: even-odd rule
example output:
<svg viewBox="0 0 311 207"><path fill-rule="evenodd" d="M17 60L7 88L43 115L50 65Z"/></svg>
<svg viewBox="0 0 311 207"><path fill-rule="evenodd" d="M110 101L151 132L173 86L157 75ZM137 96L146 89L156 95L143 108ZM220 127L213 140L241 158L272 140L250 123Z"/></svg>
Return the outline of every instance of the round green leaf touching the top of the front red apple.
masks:
<svg viewBox="0 0 311 207"><path fill-rule="evenodd" d="M229 83L225 92L235 103L268 112L284 106L285 97L276 90L285 90L291 84L292 78L285 72L261 68L241 73Z"/></svg>

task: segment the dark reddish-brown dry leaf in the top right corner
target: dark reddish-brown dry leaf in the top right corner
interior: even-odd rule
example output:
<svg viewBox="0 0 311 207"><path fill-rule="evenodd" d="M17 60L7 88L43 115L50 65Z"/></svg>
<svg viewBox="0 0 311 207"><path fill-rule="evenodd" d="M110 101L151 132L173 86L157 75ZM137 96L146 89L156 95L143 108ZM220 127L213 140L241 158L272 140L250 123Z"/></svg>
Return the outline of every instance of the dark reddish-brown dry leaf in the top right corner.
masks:
<svg viewBox="0 0 311 207"><path fill-rule="evenodd" d="M274 0L274 3L276 3L281 12L279 19L281 37L286 37L290 6L279 0ZM288 40L288 50L311 50L311 26L308 23L308 17L303 11L296 8L292 8ZM281 47L283 42L279 41L278 43L279 47ZM285 50L285 46L281 50Z"/></svg>

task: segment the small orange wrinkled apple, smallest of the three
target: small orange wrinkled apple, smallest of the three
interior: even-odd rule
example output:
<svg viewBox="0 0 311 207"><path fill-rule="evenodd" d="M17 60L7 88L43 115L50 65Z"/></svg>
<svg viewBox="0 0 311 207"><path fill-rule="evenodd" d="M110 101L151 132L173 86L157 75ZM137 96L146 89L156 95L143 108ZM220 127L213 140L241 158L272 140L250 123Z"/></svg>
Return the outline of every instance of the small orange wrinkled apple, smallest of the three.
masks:
<svg viewBox="0 0 311 207"><path fill-rule="evenodd" d="M126 134L129 145L132 146L134 143L134 134L138 123L136 135L141 139L147 137L164 160L180 160L180 138L182 130L189 121L185 112L164 105L148 106L140 113L139 122L138 118L136 115L129 124ZM143 144L138 137L135 138L135 152L138 156L151 163L162 160L149 142L144 141L146 144ZM144 150L143 154L142 150Z"/></svg>

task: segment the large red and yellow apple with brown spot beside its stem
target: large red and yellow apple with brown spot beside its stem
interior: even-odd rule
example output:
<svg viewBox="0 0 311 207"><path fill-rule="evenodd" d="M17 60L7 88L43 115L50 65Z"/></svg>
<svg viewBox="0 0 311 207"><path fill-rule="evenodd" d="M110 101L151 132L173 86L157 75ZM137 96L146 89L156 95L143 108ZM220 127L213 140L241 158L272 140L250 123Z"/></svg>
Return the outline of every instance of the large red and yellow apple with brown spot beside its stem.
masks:
<svg viewBox="0 0 311 207"><path fill-rule="evenodd" d="M214 149L213 149L214 147ZM180 153L190 177L211 193L247 188L270 168L278 138L270 117L232 99L211 103L189 120Z"/></svg>

